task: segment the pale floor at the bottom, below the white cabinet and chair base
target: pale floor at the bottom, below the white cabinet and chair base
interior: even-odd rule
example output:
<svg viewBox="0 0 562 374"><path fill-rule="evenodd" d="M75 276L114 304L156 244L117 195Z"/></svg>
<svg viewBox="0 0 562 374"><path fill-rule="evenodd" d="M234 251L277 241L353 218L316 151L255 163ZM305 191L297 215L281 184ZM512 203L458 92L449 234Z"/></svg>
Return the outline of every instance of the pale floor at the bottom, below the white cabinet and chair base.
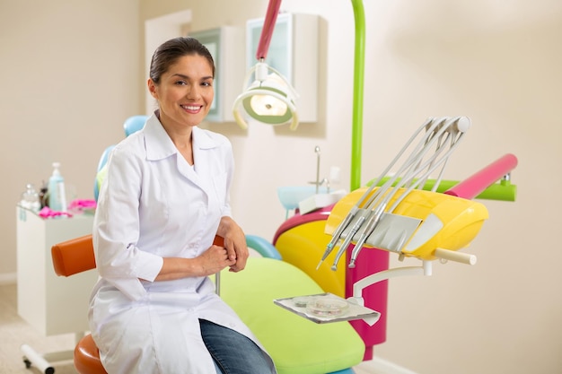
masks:
<svg viewBox="0 0 562 374"><path fill-rule="evenodd" d="M66 351L74 348L75 335L41 335L18 316L16 293L15 284L0 284L0 374L38 374L39 369L25 367L22 344L41 353ZM54 367L56 374L77 374L72 361L60 361ZM362 362L354 371L356 374L416 374L378 358Z"/></svg>

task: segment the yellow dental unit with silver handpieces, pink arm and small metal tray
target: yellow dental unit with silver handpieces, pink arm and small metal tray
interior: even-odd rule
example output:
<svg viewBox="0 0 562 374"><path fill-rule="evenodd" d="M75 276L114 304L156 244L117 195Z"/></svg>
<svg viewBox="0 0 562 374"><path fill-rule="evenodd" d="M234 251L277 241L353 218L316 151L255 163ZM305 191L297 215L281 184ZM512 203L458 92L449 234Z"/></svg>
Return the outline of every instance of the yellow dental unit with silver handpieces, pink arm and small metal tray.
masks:
<svg viewBox="0 0 562 374"><path fill-rule="evenodd" d="M347 299L329 293L299 297L302 305L306 298L318 301L319 297L328 298L324 301L326 308L336 308L335 305L340 303L338 313L323 316L320 322L319 317L314 316L314 310L303 311L289 305L287 300L276 300L276 303L317 323L363 319L372 326L380 313L365 308L363 291L366 287L397 276L431 275L436 259L443 263L454 261L475 265L475 255L458 251L469 246L488 218L485 205L472 199L494 187L492 198L514 200L514 186L509 181L517 159L508 153L460 183L443 181L446 164L469 129L468 117L428 118L379 178L369 187L357 188L340 199L327 218L324 232L331 235L331 239L316 270L336 249L331 265L333 271L338 270L340 257L347 251L351 253L347 267L354 268L363 249L396 253L400 261L415 257L422 261L422 265L367 275L353 283L353 293ZM410 149L413 150L406 157ZM404 159L398 170L391 172L397 162ZM430 178L432 173L436 173L437 178ZM500 182L496 183L498 180ZM441 186L442 181L446 182L443 183L445 187ZM364 309L344 312L351 308L349 305Z"/></svg>

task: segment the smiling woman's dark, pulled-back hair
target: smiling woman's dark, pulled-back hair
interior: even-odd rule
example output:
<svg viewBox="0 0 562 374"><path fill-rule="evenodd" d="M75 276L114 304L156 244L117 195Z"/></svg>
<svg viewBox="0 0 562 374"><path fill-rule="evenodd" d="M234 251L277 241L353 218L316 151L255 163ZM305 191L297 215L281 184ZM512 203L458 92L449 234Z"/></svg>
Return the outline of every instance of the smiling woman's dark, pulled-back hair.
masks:
<svg viewBox="0 0 562 374"><path fill-rule="evenodd" d="M198 39L179 37L162 43L154 51L153 59L150 63L150 78L154 84L160 83L162 74L166 73L178 58L188 55L205 57L209 65L211 65L213 77L215 77L215 61L209 50Z"/></svg>

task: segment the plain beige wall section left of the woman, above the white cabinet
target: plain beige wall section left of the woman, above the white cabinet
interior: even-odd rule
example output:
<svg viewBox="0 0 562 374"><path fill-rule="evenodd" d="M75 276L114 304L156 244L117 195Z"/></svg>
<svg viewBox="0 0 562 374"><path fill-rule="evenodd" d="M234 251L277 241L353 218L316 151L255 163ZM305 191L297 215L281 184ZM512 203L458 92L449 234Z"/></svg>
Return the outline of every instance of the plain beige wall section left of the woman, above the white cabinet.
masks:
<svg viewBox="0 0 562 374"><path fill-rule="evenodd" d="M101 152L144 98L136 0L0 0L0 281L15 279L15 204L53 161L92 198Z"/></svg>

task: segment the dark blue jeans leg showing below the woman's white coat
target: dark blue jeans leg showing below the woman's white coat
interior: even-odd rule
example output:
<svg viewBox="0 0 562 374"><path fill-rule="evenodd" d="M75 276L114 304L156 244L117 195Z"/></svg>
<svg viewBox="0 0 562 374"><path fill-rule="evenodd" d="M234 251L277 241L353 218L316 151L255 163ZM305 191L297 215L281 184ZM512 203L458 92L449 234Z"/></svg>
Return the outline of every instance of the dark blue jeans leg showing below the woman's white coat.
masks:
<svg viewBox="0 0 562 374"><path fill-rule="evenodd" d="M269 361L265 352L248 337L228 327L199 319L201 336L211 353L218 374L267 374Z"/></svg>

